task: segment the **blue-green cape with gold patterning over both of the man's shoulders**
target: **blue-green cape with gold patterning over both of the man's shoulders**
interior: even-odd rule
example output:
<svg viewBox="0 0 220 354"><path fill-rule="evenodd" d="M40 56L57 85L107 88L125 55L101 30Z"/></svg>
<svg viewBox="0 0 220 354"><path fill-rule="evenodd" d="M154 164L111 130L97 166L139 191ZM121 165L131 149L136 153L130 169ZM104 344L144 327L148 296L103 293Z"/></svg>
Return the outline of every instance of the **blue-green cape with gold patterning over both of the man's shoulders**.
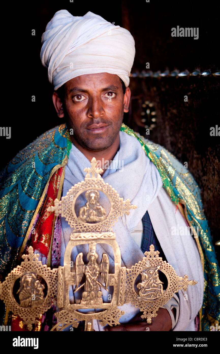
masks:
<svg viewBox="0 0 220 354"><path fill-rule="evenodd" d="M122 124L121 131L132 135L157 167L163 187L171 200L184 206L189 224L198 227L197 246L204 267L204 297L201 329L220 319L219 266L202 209L200 190L180 162L160 145L151 143ZM15 267L24 249L36 212L44 200L49 179L67 163L71 140L66 125L55 127L21 150L0 173L0 270L1 279ZM35 162L35 168L32 168ZM50 241L49 241L50 242ZM50 245L48 245L49 247ZM22 253L22 252L21 252Z"/></svg>

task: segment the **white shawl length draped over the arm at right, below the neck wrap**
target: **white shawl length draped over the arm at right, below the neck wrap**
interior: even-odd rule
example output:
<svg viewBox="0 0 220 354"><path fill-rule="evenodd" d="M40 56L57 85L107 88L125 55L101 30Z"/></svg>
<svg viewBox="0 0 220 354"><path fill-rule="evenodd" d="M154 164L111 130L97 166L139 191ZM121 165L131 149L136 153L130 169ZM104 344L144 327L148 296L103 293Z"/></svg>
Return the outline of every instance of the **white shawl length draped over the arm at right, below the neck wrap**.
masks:
<svg viewBox="0 0 220 354"><path fill-rule="evenodd" d="M179 318L173 331L195 331L194 319L202 307L204 276L200 255L193 236L172 235L172 227L186 227L185 219L164 189L148 207L148 213L157 239L167 262L172 264L177 275L188 275L189 280L198 284L188 286L187 291L179 290Z"/></svg>

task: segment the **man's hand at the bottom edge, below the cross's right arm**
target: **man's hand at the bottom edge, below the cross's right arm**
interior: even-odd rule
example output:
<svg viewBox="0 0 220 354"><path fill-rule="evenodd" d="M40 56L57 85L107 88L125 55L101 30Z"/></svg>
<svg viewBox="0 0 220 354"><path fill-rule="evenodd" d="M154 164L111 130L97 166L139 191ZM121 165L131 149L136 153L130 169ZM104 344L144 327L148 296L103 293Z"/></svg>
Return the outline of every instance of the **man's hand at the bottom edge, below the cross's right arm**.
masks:
<svg viewBox="0 0 220 354"><path fill-rule="evenodd" d="M108 326L105 331L146 331L147 327L150 331L170 331L172 321L168 311L160 307L156 313L157 316L152 318L151 324L148 324L146 319L142 320L139 312L130 322L116 327Z"/></svg>

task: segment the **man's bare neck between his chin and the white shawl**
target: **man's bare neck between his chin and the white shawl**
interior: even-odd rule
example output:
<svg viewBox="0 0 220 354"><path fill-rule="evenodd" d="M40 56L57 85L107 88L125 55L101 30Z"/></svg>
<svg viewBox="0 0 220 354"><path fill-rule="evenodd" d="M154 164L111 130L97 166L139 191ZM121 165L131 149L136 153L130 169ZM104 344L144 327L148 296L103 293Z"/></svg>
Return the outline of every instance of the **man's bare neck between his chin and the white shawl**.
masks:
<svg viewBox="0 0 220 354"><path fill-rule="evenodd" d="M104 159L105 163L109 162L114 159L115 155L117 154L119 147L120 147L120 138L119 138L119 133L117 135L117 138L115 139L114 143L107 149L102 150L102 151L92 151L92 150L87 150L86 148L82 147L81 145L78 144L78 142L71 136L71 140L75 147L83 153L83 155L91 161L91 159L94 157L98 161L102 161ZM103 172L101 173L101 176L103 173L106 171L104 169L104 166L102 166Z"/></svg>

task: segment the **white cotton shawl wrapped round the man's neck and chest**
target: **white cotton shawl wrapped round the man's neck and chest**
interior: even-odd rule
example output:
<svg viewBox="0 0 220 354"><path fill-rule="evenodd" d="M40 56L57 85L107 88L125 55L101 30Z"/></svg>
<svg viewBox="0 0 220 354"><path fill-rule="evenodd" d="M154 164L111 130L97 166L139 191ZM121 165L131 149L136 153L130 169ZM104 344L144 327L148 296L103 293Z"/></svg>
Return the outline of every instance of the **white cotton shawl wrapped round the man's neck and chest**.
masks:
<svg viewBox="0 0 220 354"><path fill-rule="evenodd" d="M118 169L118 166L124 168ZM199 284L187 290L188 301L180 293L180 315L174 330L186 330L202 304L203 297L203 271L195 241L191 236L171 236L171 227L186 225L184 218L176 206L172 203L166 191L162 188L162 180L154 164L145 155L141 144L135 137L120 132L120 149L113 160L114 169L108 169L103 175L105 182L111 184L124 199L129 198L132 204L137 205L137 209L131 210L130 215L119 218L113 226L116 233L116 240L121 252L121 266L130 268L136 262L142 260L143 252L136 242L131 238L130 233L135 229L138 222L148 210L156 236L161 244L167 261L173 265L176 273L180 276L189 275L189 279L199 281ZM83 169L89 167L90 162L74 146L69 155L68 163L65 167L63 195L74 185L82 181L85 177ZM85 198L78 198L78 209L86 202ZM106 198L100 194L99 202L106 209L108 204ZM61 239L61 265L66 245L70 238L71 229L67 222L62 218L62 239ZM190 252L189 252L190 250ZM75 262L78 252L86 254L88 245L78 246L72 250L71 261ZM100 262L102 253L107 253L109 257L109 269L113 268L113 252L108 245L97 245L97 261ZM102 289L103 300L107 301L108 293ZM71 293L70 293L71 297ZM73 293L72 293L73 297ZM75 293L75 298L77 293ZM133 318L139 309L131 304L120 307L125 311L125 315L119 320L125 323ZM94 321L95 322L95 321ZM95 330L103 330L97 322L94 323ZM194 323L187 330L195 330Z"/></svg>

